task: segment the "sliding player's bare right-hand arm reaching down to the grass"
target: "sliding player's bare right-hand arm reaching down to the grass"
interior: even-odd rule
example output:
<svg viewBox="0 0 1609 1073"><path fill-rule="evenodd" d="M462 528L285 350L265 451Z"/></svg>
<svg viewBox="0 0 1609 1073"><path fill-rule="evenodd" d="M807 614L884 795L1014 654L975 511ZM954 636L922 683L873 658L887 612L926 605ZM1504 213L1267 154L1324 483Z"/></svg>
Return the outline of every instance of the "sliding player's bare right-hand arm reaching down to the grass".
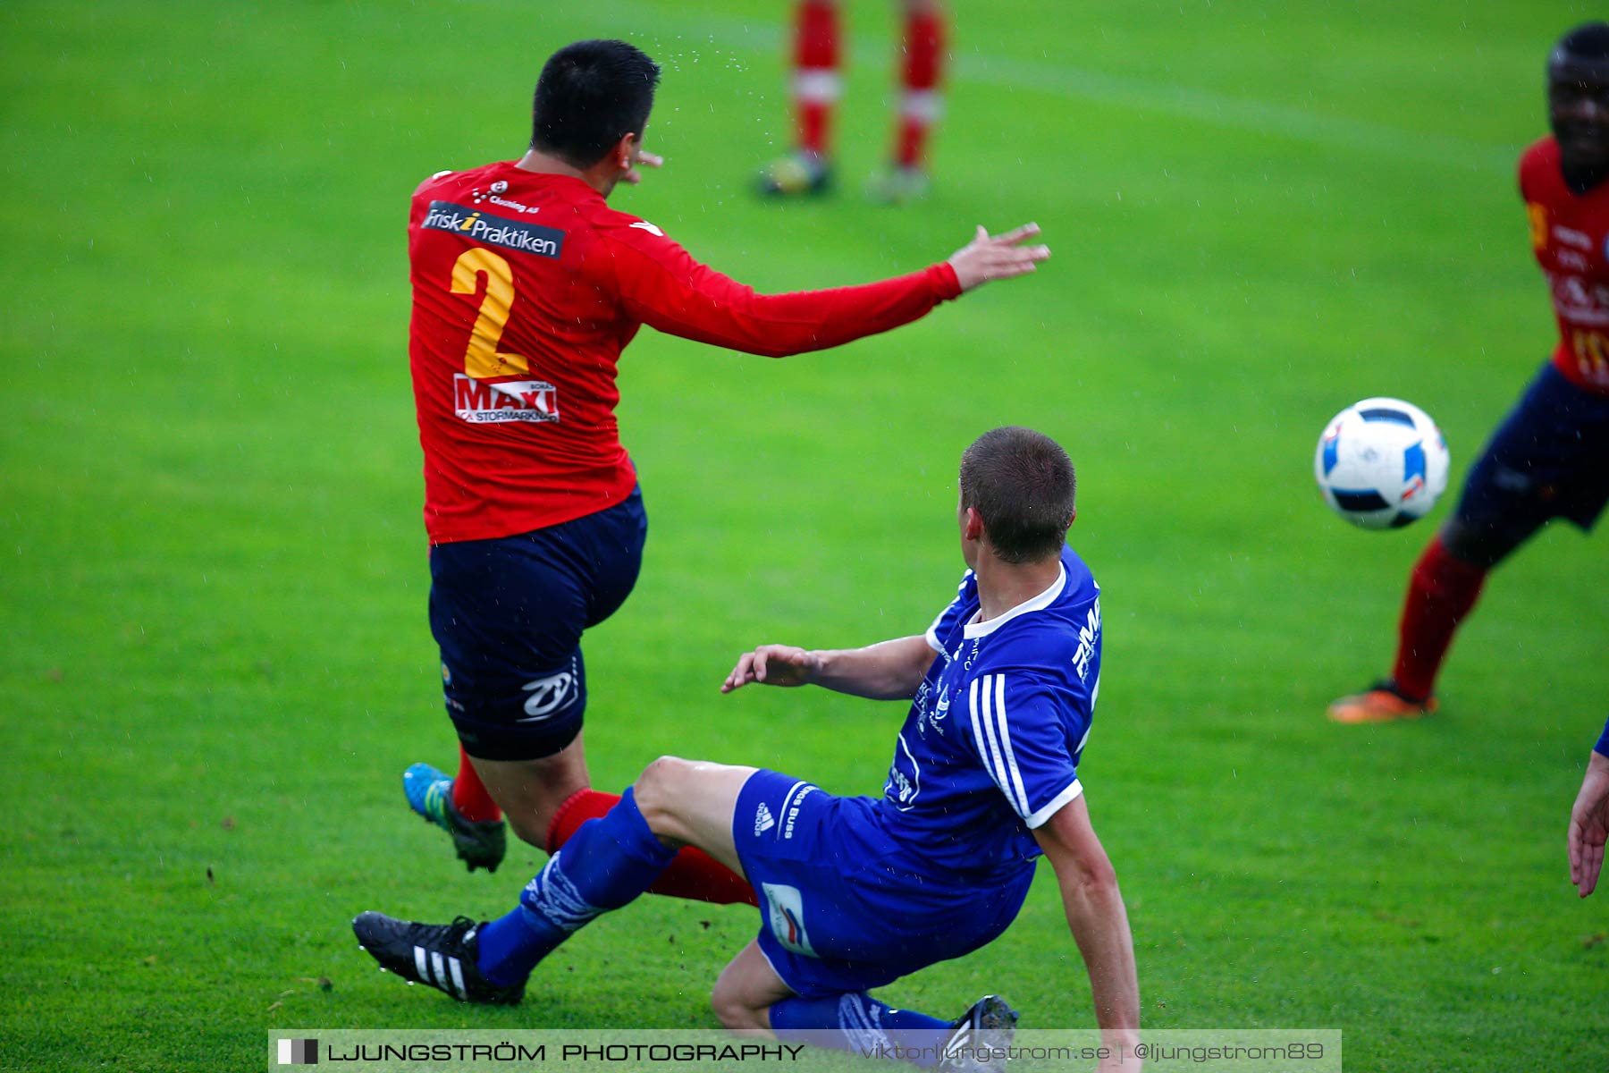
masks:
<svg viewBox="0 0 1609 1073"><path fill-rule="evenodd" d="M1089 972L1089 993L1102 1041L1131 1050L1139 1042L1134 939L1128 931L1128 911L1117 886L1117 872L1089 825L1083 796L1057 809L1035 828L1033 837L1056 869L1067 927Z"/></svg>

